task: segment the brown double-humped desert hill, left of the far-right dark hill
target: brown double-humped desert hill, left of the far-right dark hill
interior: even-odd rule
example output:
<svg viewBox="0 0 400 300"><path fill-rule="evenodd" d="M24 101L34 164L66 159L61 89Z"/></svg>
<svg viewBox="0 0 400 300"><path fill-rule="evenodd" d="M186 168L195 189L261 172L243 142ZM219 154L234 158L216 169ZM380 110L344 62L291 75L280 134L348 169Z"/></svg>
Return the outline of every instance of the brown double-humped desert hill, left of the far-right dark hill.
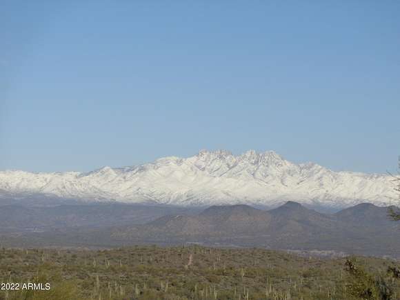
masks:
<svg viewBox="0 0 400 300"><path fill-rule="evenodd" d="M197 215L161 217L141 226L132 226L117 235L140 237L260 237L282 234L309 234L334 228L334 217L288 202L274 210L247 205L211 206Z"/></svg>

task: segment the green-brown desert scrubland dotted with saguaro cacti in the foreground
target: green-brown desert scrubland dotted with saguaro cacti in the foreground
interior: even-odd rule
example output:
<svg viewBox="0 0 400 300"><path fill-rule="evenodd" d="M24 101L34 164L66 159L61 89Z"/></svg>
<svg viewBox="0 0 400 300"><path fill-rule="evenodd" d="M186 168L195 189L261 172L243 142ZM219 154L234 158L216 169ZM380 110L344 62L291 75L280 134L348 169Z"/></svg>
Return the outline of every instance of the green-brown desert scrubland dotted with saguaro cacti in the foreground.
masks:
<svg viewBox="0 0 400 300"><path fill-rule="evenodd" d="M0 299L399 299L397 266L374 257L196 245L2 248L2 283L50 283L51 288L1 290Z"/></svg>

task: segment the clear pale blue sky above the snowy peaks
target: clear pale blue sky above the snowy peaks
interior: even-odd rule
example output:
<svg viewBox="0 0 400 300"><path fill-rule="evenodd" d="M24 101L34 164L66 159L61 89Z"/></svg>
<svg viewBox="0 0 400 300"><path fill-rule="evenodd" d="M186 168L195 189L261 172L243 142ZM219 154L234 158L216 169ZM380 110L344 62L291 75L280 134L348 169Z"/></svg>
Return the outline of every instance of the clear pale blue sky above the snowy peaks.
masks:
<svg viewBox="0 0 400 300"><path fill-rule="evenodd" d="M400 1L1 1L0 170L201 149L395 171Z"/></svg>

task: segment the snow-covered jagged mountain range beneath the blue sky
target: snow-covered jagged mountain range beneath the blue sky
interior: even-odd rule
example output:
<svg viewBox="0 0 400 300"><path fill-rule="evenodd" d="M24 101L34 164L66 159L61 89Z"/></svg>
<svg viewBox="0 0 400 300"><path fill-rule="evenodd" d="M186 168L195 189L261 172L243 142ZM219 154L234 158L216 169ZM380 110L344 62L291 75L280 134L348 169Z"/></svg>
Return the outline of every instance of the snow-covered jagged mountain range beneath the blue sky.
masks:
<svg viewBox="0 0 400 300"><path fill-rule="evenodd" d="M126 168L92 172L0 172L0 197L56 197L84 201L179 206L286 201L347 207L361 202L397 203L386 174L333 172L315 163L292 163L279 154L201 150L186 159L165 157Z"/></svg>

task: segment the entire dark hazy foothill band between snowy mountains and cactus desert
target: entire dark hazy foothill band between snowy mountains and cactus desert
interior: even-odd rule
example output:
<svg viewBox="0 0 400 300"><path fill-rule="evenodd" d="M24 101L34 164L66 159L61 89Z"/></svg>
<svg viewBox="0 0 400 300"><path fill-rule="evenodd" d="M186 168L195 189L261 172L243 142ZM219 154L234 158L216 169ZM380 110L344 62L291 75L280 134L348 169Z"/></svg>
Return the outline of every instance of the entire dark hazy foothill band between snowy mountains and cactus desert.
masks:
<svg viewBox="0 0 400 300"><path fill-rule="evenodd" d="M167 214L167 215L166 215ZM400 258L400 222L362 203L323 214L296 202L273 210L246 205L185 208L103 204L0 207L0 243L9 246L128 246L203 243Z"/></svg>

